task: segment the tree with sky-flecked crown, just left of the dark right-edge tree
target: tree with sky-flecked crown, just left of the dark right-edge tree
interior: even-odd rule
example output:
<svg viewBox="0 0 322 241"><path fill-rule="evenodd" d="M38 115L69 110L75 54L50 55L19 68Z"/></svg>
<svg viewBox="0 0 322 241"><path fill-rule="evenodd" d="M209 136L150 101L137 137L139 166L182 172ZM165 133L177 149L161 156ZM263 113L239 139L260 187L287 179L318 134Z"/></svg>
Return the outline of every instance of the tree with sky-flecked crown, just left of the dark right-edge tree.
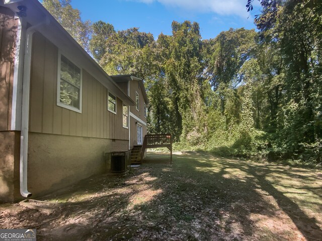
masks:
<svg viewBox="0 0 322 241"><path fill-rule="evenodd" d="M222 114L226 113L227 124L232 119L238 119L238 111L234 111L236 115L232 116L228 116L231 112L226 111L226 94L230 92L227 89L234 89L240 83L238 71L254 54L255 36L254 30L229 29L207 43L207 76L220 98L219 107Z"/></svg>

